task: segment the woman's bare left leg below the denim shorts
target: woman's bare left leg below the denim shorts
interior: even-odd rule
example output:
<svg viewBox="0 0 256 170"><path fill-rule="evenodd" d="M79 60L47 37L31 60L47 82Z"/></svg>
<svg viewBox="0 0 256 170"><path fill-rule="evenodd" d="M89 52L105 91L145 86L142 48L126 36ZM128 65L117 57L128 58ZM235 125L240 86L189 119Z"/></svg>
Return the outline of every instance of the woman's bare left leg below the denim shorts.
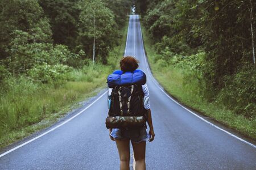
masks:
<svg viewBox="0 0 256 170"><path fill-rule="evenodd" d="M130 139L118 140L115 139L120 158L120 169L129 170L130 167Z"/></svg>

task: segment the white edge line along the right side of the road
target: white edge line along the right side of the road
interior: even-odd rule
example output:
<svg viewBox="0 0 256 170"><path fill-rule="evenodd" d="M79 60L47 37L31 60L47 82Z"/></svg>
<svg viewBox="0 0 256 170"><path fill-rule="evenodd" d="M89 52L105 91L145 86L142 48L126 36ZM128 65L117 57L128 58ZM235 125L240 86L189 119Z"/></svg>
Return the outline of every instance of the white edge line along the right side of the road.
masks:
<svg viewBox="0 0 256 170"><path fill-rule="evenodd" d="M139 28L141 29L141 22L139 22ZM192 111L189 110L188 108L185 108L183 105L181 105L181 104L178 103L176 100L174 100L171 96L169 96L169 95L163 90L163 87L160 86L160 84L155 80L154 76L151 74L151 71L150 71L150 69L149 69L148 62L147 62L147 59L146 59L146 53L145 53L145 51L144 51L144 42L143 42L143 38L142 38L142 31L141 31L141 39L142 39L142 45L143 45L144 60L145 60L145 62L146 62L146 67L147 67L148 74L151 76L151 79L152 79L152 81L156 84L156 86L157 86L169 99L171 99L171 100L174 101L176 104L180 105L180 107L184 108L185 110L187 110L188 112L192 113L192 114L195 115L196 117L200 118L201 120L203 120L203 121L206 122L207 124L212 125L214 128L217 128L218 130L221 130L221 131L225 132L226 134L228 134L228 135L230 135L230 136L232 136L232 137L234 137L234 138L236 138L236 139L238 139L238 140L240 140L240 141L246 143L247 145L250 145L250 146L256 148L256 145L254 145L253 143L247 142L247 141L245 141L244 139L238 137L237 135L234 135L234 134L230 133L229 131L226 131L226 130L224 130L224 129L218 127L217 125L212 124L211 122L205 120L203 117L201 117L201 116L199 116L198 114L192 112Z"/></svg>

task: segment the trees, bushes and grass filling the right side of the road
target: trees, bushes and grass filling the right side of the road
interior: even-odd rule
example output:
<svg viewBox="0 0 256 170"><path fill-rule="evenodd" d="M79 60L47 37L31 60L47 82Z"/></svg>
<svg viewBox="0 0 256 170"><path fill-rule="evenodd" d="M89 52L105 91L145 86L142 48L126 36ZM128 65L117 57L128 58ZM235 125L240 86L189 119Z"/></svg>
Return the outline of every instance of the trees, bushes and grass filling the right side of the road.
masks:
<svg viewBox="0 0 256 170"><path fill-rule="evenodd" d="M137 1L152 72L182 103L256 139L256 3Z"/></svg>

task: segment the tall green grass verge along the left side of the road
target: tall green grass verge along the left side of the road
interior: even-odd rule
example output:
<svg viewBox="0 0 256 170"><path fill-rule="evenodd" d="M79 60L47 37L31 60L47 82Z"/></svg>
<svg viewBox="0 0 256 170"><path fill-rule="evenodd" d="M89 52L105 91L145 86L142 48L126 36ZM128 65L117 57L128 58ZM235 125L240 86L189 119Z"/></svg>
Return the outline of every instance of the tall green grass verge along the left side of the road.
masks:
<svg viewBox="0 0 256 170"><path fill-rule="evenodd" d="M47 84L36 87L25 78L18 81L21 84L15 84L14 88L23 87L23 91L9 92L0 97L1 121L5 125L1 129L1 147L52 125L78 107L78 104L74 106L78 101L95 95L105 83L104 78L97 78L93 82L67 82L54 88Z"/></svg>

